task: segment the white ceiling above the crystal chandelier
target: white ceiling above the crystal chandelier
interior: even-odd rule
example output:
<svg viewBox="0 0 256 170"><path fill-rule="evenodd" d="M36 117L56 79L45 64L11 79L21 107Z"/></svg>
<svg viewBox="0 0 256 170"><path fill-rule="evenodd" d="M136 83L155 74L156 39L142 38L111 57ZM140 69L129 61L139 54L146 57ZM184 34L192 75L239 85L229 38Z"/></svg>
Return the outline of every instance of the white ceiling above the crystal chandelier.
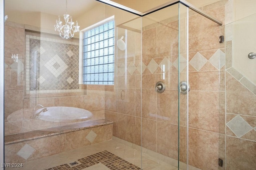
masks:
<svg viewBox="0 0 256 170"><path fill-rule="evenodd" d="M96 0L68 0L68 14L73 17L83 14L100 2ZM52 15L66 14L66 0L5 0L5 15L8 11L44 12Z"/></svg>

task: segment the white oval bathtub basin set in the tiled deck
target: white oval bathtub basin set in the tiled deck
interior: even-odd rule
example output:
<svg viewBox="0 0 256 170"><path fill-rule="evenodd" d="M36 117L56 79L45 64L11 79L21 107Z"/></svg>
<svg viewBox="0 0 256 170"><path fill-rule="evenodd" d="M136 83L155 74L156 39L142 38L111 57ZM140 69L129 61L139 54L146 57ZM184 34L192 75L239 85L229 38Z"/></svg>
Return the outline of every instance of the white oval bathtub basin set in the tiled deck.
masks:
<svg viewBox="0 0 256 170"><path fill-rule="evenodd" d="M42 111L38 115L38 119L52 122L80 122L92 118L92 113L85 109L76 107L47 107L47 111ZM39 113L42 109L36 110L35 114Z"/></svg>

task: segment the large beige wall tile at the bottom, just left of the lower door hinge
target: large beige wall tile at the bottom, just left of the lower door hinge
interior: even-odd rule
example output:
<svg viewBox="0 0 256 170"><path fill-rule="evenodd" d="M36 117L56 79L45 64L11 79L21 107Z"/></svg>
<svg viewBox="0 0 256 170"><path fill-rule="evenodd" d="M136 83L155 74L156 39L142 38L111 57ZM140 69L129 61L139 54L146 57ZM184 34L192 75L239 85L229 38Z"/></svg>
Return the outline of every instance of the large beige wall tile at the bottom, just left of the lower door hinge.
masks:
<svg viewBox="0 0 256 170"><path fill-rule="evenodd" d="M189 129L189 164L202 170L218 169L219 135Z"/></svg>

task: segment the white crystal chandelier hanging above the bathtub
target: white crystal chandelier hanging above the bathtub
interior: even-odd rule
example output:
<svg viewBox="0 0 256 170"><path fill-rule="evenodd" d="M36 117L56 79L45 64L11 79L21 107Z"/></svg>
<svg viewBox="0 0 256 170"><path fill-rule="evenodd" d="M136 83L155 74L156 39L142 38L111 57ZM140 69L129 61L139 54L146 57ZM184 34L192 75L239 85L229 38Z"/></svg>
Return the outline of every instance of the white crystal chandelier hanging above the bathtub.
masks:
<svg viewBox="0 0 256 170"><path fill-rule="evenodd" d="M54 25L55 31L59 31L60 37L69 39L74 37L74 33L79 32L79 27L78 23L76 21L76 25L74 25L74 22L72 21L72 17L68 14L68 3L66 0L66 14L64 14L64 20L65 20L65 25L62 25L62 21L60 21L60 16L58 20L56 20L56 24ZM70 19L70 21L69 21Z"/></svg>

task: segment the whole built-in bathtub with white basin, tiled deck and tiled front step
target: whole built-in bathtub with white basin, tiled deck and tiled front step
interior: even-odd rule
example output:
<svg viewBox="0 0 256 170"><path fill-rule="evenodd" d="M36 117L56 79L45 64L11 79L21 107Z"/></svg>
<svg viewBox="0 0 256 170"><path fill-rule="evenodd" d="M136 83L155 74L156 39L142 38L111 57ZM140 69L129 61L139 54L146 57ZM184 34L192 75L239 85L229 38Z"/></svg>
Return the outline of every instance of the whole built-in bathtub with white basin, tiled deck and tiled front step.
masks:
<svg viewBox="0 0 256 170"><path fill-rule="evenodd" d="M105 119L104 112L95 115L76 107L47 108L38 119L30 117L33 108L8 115L4 123L6 162L28 162L112 139L113 121Z"/></svg>

